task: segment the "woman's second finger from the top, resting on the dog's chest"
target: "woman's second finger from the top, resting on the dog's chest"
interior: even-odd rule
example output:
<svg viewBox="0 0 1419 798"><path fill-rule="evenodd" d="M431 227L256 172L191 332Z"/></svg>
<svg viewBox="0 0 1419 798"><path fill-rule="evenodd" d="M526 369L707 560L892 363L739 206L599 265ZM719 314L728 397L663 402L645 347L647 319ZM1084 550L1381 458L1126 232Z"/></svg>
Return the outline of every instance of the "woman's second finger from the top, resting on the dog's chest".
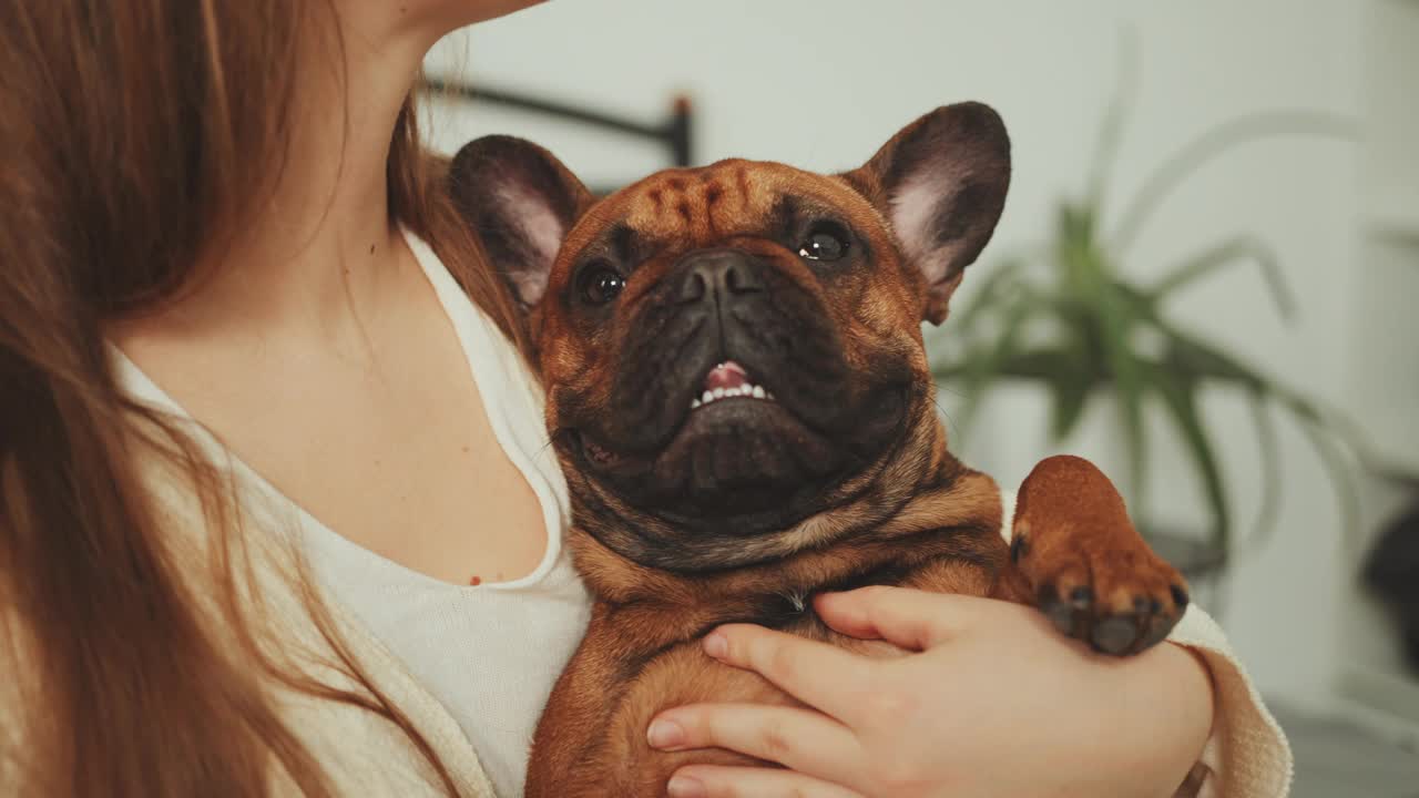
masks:
<svg viewBox="0 0 1419 798"><path fill-rule="evenodd" d="M711 632L704 650L725 665L753 670L805 704L849 723L858 696L877 680L873 670L877 663L868 657L746 623Z"/></svg>

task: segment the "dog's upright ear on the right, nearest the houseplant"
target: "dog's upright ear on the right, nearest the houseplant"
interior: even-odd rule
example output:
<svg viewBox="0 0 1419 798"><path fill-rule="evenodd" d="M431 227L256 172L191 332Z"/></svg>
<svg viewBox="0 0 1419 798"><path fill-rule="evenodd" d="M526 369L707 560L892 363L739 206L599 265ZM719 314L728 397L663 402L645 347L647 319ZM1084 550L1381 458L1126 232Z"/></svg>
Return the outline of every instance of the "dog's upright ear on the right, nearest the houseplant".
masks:
<svg viewBox="0 0 1419 798"><path fill-rule="evenodd" d="M927 114L843 175L891 223L927 278L922 318L941 324L965 268L995 231L1010 185L1010 138L988 105Z"/></svg>

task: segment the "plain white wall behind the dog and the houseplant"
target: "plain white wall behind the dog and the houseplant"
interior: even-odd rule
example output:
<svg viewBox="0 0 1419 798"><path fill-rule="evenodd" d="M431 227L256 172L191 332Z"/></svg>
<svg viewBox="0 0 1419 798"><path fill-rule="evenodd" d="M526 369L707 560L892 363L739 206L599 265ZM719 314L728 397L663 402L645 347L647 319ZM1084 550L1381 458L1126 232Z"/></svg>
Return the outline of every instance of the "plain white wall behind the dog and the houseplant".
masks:
<svg viewBox="0 0 1419 798"><path fill-rule="evenodd" d="M436 53L474 81L664 114L688 92L700 111L700 158L749 156L805 168L856 166L898 126L935 105L982 99L1015 141L1005 220L976 280L999 254L1042 236L1061 193L1083 186L1097 121L1112 87L1117 43L1135 26L1141 91L1115 185L1209 125L1260 108L1342 114L1359 102L1359 3L1352 0L849 1L561 0L481 26ZM552 146L590 180L623 180L657 163L609 139L495 112L444 116L444 146L484 132ZM1222 236L1254 231L1280 253L1300 319L1283 325L1254 271L1191 291L1186 322L1321 396L1344 400L1355 216L1352 146L1277 141L1237 151L1199 173L1139 240L1128 271L1156 274ZM968 285L971 278L966 280ZM954 399L942 398L945 409ZM1037 402L1002 398L1012 417L972 439L968 459L1016 483L1046 454L1026 417ZM1256 463L1242 405L1212 398L1240 520L1254 515ZM1023 415L1022 415L1023 413ZM1108 442L1083 440L1088 452ZM1236 574L1229 630L1264 689L1317 694L1337 666L1334 596L1338 513L1298 434L1283 440L1286 494L1273 542ZM1202 521L1179 456L1155 467L1164 515Z"/></svg>

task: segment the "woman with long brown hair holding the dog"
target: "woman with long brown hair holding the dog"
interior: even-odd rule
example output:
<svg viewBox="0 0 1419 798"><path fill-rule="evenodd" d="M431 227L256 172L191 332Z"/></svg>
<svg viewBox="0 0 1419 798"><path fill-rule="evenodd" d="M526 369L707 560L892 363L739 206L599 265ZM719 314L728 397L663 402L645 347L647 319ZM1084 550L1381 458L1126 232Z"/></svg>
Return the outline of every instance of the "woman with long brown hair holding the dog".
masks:
<svg viewBox="0 0 1419 798"><path fill-rule="evenodd" d="M587 601L518 317L410 91L526 4L0 6L0 792L521 791ZM711 636L827 714L671 710L658 745L789 765L674 795L1284 791L1200 615L1101 663L982 599L820 611L922 653ZM820 676L876 711L830 717Z"/></svg>

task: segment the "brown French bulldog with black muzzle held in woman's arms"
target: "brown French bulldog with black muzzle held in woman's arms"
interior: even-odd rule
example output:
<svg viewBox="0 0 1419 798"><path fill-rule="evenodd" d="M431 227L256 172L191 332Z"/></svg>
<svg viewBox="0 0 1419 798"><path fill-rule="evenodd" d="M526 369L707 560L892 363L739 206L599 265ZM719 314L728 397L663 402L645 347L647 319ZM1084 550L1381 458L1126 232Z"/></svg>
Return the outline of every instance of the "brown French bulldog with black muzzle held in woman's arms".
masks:
<svg viewBox="0 0 1419 798"><path fill-rule="evenodd" d="M1013 545L995 483L946 452L921 321L939 322L1005 204L993 111L922 116L834 176L722 160L593 202L546 151L485 138L453 187L528 307L570 545L596 598L532 747L528 798L663 795L691 761L663 709L789 703L704 656L719 623L830 640L809 596L870 584L1037 602L1139 652L1186 605L1091 464L1026 480ZM881 643L876 643L881 646Z"/></svg>

